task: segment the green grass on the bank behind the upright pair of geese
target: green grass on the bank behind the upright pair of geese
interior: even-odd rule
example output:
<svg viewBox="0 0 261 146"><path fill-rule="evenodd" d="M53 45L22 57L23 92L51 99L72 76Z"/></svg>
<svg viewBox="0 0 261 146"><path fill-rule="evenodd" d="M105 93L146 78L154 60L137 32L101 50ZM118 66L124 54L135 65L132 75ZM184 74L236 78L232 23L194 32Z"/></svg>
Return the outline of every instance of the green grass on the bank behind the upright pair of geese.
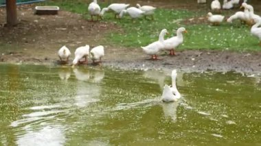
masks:
<svg viewBox="0 0 261 146"><path fill-rule="evenodd" d="M44 5L58 5L62 10L69 10L82 14L84 19L90 19L87 12L89 3L78 0L47 1ZM108 3L101 3L101 8ZM178 49L220 49L234 51L258 51L258 38L251 36L250 27L239 25L238 21L232 24L223 23L220 26L212 26L209 23L183 23L187 19L205 16L205 12L190 12L189 10L157 9L155 21L137 19L134 23L129 16L123 19L114 19L111 13L105 13L104 20L119 25L122 31L110 32L104 36L108 43L123 47L140 47L148 45L158 39L161 29L166 28L171 37L179 27L185 27L188 34L184 35L184 43Z"/></svg>

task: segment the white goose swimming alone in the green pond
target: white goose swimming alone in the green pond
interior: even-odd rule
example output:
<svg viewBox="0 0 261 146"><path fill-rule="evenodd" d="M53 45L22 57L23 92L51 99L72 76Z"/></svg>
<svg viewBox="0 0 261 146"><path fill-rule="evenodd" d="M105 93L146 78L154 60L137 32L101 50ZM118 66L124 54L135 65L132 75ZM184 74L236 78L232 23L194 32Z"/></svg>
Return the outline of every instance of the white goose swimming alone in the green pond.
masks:
<svg viewBox="0 0 261 146"><path fill-rule="evenodd" d="M177 70L172 70L171 73L172 77L172 87L168 86L167 84L163 88L163 93L161 96L162 101L170 102L170 101L178 101L181 98L181 94L177 89L176 85L176 78L177 78Z"/></svg>

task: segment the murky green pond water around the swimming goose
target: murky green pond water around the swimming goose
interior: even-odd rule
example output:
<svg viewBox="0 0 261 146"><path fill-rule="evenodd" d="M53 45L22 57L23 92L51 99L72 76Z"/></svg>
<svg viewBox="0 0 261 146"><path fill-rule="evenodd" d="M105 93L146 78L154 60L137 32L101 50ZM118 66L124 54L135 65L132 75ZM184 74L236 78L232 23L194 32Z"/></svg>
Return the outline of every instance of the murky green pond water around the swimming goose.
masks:
<svg viewBox="0 0 261 146"><path fill-rule="evenodd" d="M0 145L261 145L260 77L0 64Z"/></svg>

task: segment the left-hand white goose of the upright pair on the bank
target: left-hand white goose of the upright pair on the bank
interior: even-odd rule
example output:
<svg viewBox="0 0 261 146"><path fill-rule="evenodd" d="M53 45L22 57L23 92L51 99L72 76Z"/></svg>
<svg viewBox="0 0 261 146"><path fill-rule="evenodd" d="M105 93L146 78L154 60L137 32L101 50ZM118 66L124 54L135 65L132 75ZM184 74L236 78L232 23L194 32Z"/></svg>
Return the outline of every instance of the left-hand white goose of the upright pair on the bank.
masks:
<svg viewBox="0 0 261 146"><path fill-rule="evenodd" d="M157 40L156 42L152 42L146 47L141 47L145 53L151 56L152 60L157 60L157 53L159 53L159 51L164 48L164 36L167 33L167 29L162 29L161 33L159 34L159 40Z"/></svg>

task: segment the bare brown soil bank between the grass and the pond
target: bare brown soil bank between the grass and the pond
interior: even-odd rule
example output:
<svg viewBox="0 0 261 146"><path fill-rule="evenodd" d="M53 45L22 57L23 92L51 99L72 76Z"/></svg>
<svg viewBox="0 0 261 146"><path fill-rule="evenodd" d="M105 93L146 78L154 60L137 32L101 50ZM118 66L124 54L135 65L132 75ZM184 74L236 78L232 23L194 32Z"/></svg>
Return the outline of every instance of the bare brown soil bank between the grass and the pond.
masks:
<svg viewBox="0 0 261 146"><path fill-rule="evenodd" d="M63 45L73 52L85 44L104 45L103 66L120 69L182 69L188 71L261 72L261 52L179 51L176 56L167 52L159 60L148 60L140 48L115 47L103 41L109 31L120 31L113 23L91 22L79 14L60 11L58 15L34 14L34 5L18 7L19 24L0 27L0 62L58 64L57 51ZM0 23L5 23L5 8L0 8ZM70 64L70 63L69 63ZM69 65L68 64L68 65ZM91 65L91 64L90 64Z"/></svg>

